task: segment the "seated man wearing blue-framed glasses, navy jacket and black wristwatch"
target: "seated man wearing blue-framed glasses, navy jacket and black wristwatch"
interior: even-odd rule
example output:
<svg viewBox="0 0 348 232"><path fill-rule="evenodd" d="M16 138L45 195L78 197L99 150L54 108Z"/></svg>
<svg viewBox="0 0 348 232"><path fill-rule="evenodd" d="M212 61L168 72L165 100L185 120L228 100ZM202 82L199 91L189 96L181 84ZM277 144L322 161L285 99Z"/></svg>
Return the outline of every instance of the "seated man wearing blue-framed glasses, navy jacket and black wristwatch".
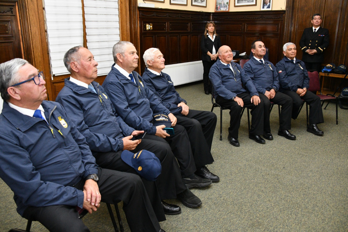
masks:
<svg viewBox="0 0 348 232"><path fill-rule="evenodd" d="M163 231L139 176L98 167L64 108L45 101L44 79L25 60L0 64L0 177L17 212L49 231L89 231L79 208L123 201L131 231Z"/></svg>

